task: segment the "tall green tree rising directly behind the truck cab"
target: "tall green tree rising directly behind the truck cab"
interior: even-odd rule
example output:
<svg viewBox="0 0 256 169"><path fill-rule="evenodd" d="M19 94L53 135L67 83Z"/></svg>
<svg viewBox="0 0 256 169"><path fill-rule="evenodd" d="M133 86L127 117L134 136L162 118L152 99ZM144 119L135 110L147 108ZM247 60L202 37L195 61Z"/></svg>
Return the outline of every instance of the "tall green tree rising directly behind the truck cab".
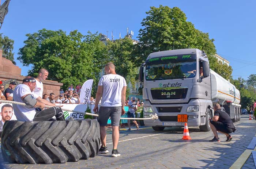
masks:
<svg viewBox="0 0 256 169"><path fill-rule="evenodd" d="M137 66L146 60L150 53L185 48L204 50L210 60L210 68L225 79L231 77L231 66L222 65L213 57L216 53L214 39L208 33L197 30L187 21L187 17L180 8L170 8L160 5L150 7L147 16L142 20L139 30L140 43L135 46Z"/></svg>

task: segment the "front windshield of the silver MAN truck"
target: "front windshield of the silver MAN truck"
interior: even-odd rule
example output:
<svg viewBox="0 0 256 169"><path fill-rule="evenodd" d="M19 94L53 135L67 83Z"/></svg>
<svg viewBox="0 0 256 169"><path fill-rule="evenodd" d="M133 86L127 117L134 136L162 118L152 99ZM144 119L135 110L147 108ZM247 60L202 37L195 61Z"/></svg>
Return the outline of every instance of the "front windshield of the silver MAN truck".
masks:
<svg viewBox="0 0 256 169"><path fill-rule="evenodd" d="M146 80L169 80L196 76L196 59L172 59L147 62Z"/></svg>

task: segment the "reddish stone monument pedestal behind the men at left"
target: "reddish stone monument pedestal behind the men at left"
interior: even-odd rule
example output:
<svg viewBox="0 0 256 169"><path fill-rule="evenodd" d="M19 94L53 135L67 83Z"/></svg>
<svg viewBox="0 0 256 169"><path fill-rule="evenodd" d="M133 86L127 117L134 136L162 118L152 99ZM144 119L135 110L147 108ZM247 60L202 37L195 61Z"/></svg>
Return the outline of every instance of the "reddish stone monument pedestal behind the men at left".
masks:
<svg viewBox="0 0 256 169"><path fill-rule="evenodd" d="M21 84L25 76L21 76L21 69L14 65L10 60L2 57L3 51L0 50L0 81L3 82L5 89L9 87L10 81L15 81L16 84ZM54 93L55 96L59 96L60 87L63 83L57 81L45 80L44 84L44 94Z"/></svg>

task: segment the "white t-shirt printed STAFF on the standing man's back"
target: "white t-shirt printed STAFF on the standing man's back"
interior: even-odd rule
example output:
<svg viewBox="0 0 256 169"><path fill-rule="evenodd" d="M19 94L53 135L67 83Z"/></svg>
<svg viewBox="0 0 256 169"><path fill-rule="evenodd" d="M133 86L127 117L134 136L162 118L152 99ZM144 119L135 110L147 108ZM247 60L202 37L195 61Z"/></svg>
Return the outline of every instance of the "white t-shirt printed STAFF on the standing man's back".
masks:
<svg viewBox="0 0 256 169"><path fill-rule="evenodd" d="M124 77L118 74L106 74L100 78L98 85L103 86L101 106L122 106L122 89L127 86Z"/></svg>

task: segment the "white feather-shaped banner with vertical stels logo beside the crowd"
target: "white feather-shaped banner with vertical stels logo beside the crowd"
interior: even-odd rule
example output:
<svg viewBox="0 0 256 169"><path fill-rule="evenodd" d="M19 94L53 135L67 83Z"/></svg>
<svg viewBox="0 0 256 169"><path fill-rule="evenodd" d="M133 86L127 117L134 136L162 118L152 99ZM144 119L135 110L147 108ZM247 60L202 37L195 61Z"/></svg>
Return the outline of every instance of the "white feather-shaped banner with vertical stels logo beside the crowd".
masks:
<svg viewBox="0 0 256 169"><path fill-rule="evenodd" d="M80 102L88 104L91 97L91 88L93 87L93 79L84 82L80 92Z"/></svg>

